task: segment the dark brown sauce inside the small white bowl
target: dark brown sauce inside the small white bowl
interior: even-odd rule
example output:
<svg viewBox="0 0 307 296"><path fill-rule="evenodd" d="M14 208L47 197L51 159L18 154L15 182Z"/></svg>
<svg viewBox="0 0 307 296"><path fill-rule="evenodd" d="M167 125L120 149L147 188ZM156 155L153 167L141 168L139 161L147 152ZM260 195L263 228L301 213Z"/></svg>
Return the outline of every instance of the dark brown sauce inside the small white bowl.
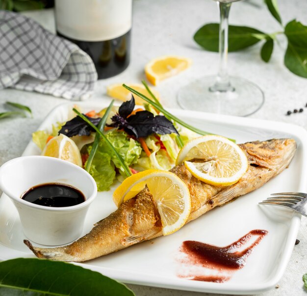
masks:
<svg viewBox="0 0 307 296"><path fill-rule="evenodd" d="M31 187L21 198L36 205L56 208L71 207L85 201L80 190L60 183L47 183Z"/></svg>

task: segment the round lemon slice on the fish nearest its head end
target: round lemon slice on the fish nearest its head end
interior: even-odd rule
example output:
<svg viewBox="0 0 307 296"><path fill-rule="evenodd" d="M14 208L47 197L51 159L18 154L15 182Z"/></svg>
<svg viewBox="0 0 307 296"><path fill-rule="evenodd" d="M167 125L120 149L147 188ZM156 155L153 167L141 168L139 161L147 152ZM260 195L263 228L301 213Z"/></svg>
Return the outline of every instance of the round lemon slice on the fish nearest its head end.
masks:
<svg viewBox="0 0 307 296"><path fill-rule="evenodd" d="M192 159L194 161L190 161ZM182 161L195 178L215 186L236 183L248 168L246 155L240 147L219 135L205 135L187 142L176 164Z"/></svg>

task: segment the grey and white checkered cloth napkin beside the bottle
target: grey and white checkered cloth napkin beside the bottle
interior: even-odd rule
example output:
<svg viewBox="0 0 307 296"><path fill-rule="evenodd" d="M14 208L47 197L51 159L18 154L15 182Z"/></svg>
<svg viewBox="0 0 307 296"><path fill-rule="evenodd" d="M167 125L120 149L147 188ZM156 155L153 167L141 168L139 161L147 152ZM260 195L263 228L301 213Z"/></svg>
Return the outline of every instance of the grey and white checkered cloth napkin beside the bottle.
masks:
<svg viewBox="0 0 307 296"><path fill-rule="evenodd" d="M95 81L94 63L77 45L21 14L0 11L0 89L83 100Z"/></svg>

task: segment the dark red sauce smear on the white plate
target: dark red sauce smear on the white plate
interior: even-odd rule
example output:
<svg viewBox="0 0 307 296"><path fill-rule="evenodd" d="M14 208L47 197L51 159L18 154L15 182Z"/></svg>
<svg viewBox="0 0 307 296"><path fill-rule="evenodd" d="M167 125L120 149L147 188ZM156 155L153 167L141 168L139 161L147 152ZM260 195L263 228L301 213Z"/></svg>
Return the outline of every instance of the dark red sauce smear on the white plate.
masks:
<svg viewBox="0 0 307 296"><path fill-rule="evenodd" d="M224 247L196 241L183 242L181 251L188 256L190 265L224 272L221 276L198 274L194 275L192 279L206 282L225 282L229 280L230 273L244 267L247 257L253 252L254 247L267 235L267 233L266 230L252 230L236 242ZM255 237L257 238L252 244L241 251L238 250ZM225 272L228 273L228 275L225 275Z"/></svg>

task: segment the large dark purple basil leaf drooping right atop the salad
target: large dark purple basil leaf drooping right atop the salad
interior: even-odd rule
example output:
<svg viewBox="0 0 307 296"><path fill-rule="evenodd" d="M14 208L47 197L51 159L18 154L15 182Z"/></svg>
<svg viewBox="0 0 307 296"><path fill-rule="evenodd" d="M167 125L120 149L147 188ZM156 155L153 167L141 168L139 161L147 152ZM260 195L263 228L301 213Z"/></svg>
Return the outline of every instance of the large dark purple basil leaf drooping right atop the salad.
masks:
<svg viewBox="0 0 307 296"><path fill-rule="evenodd" d="M153 116L153 113L149 111L139 111L135 115L129 116L127 122L126 133L135 135L137 138L152 134L178 134L173 123L165 116Z"/></svg>

